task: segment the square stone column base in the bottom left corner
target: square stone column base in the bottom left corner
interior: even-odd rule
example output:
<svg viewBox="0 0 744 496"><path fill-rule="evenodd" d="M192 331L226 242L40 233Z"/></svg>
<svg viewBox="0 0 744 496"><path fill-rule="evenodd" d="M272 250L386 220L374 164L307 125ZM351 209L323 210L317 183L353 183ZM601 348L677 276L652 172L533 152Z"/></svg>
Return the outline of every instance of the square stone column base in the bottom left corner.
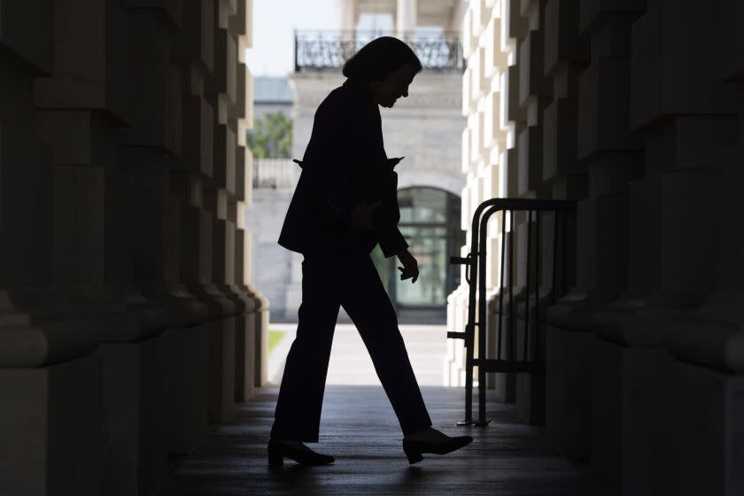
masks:
<svg viewBox="0 0 744 496"><path fill-rule="evenodd" d="M95 355L0 369L0 494L101 494L100 379Z"/></svg>

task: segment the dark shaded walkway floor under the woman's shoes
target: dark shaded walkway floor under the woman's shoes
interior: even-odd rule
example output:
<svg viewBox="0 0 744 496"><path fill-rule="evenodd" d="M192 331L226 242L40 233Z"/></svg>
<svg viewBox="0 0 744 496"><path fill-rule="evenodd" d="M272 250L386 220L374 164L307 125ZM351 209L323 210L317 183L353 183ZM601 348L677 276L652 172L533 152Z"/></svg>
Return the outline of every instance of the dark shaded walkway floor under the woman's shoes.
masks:
<svg viewBox="0 0 744 496"><path fill-rule="evenodd" d="M409 465L382 387L329 385L320 442L308 446L336 461L308 467L285 459L283 469L270 469L266 446L277 393L277 387L261 388L241 405L233 422L219 426L206 446L181 461L159 495L604 496L536 428L517 422L512 406L490 402L491 424L456 426L464 390L442 386L422 386L423 399L435 427L475 438L461 450L424 454L423 461Z"/></svg>

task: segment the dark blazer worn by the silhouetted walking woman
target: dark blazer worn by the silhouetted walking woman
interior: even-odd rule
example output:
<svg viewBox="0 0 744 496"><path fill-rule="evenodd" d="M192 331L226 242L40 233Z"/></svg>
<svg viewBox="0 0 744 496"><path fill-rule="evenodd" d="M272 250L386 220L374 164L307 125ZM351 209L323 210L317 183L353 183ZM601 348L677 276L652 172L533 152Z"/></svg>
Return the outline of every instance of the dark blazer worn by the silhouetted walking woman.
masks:
<svg viewBox="0 0 744 496"><path fill-rule="evenodd" d="M385 257L408 247L400 234L395 194L398 175L384 151L380 109L368 87L347 79L315 111L297 187L278 243L292 252L318 246L371 252L380 244ZM353 206L381 199L375 229L350 229Z"/></svg>

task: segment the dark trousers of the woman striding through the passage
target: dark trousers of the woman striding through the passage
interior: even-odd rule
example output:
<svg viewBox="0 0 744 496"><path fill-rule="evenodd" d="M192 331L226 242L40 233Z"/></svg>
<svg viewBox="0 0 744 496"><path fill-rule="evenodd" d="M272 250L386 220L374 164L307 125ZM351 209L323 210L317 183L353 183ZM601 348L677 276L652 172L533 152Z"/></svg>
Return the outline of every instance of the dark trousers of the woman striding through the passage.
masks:
<svg viewBox="0 0 744 496"><path fill-rule="evenodd" d="M297 336L284 366L271 437L318 442L333 332L343 306L360 332L403 434L431 425L398 329L398 317L366 250L306 253ZM410 280L408 280L410 283ZM364 422L364 419L360 419Z"/></svg>

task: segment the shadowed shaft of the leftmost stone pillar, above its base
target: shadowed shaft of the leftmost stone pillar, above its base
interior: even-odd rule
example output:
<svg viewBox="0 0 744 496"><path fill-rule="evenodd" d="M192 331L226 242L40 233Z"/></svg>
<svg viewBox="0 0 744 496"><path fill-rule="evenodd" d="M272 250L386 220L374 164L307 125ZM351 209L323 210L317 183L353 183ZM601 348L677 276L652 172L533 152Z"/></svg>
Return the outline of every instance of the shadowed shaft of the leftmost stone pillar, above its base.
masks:
<svg viewBox="0 0 744 496"><path fill-rule="evenodd" d="M0 284L3 288L51 283L53 251L50 218L54 171L52 151L35 133L34 78L54 70L54 25L49 0L32 7L3 4L0 45L3 113L0 117ZM9 32L13 24L38 22L41 33ZM11 215L13 212L23 213Z"/></svg>

